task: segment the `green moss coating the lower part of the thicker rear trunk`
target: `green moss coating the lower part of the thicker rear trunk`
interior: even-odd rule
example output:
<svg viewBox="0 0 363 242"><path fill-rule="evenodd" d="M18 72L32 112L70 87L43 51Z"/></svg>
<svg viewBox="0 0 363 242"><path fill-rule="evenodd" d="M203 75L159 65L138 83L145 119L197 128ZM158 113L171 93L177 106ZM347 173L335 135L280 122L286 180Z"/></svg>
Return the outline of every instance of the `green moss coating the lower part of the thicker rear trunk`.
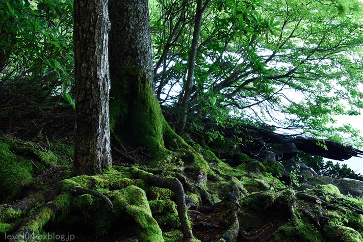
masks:
<svg viewBox="0 0 363 242"><path fill-rule="evenodd" d="M118 72L118 80L111 80L111 133L122 143L156 152L164 146L164 117L147 71L138 68L132 60L125 60Z"/></svg>

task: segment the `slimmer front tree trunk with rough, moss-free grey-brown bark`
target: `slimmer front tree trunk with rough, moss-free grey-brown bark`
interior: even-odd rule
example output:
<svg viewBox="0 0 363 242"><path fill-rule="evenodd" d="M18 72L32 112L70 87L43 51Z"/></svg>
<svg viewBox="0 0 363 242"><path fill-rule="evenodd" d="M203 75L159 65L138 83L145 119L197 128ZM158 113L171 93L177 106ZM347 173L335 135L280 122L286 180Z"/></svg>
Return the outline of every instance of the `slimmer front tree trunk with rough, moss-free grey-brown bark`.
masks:
<svg viewBox="0 0 363 242"><path fill-rule="evenodd" d="M111 165L108 111L107 0L74 1L76 79L75 175Z"/></svg>

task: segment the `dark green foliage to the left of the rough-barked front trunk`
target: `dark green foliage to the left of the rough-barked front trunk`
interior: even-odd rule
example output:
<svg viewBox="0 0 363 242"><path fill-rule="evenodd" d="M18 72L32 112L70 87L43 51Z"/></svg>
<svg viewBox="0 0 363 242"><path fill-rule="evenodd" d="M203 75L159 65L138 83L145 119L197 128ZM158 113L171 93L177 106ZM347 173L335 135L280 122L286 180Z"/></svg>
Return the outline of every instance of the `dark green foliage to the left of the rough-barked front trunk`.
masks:
<svg viewBox="0 0 363 242"><path fill-rule="evenodd" d="M0 2L2 110L74 105L72 15L72 0Z"/></svg>

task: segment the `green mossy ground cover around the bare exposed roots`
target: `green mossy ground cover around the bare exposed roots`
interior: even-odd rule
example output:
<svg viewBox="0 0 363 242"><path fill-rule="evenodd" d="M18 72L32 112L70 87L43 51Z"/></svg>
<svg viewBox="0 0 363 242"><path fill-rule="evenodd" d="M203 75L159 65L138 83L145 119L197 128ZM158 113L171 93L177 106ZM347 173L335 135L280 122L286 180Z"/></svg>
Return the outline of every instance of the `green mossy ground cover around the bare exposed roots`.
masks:
<svg viewBox="0 0 363 242"><path fill-rule="evenodd" d="M167 135L175 137L175 133L171 131ZM137 228L136 234L131 233L134 239L130 240L183 241L174 192L147 182L150 176L154 176L153 173L169 178L178 173L186 176L185 181L189 183L189 187L183 184L185 195L194 204L188 213L189 221L194 224L198 236L201 236L201 231L206 231L202 236L204 239L217 241L224 232L233 231L233 226L229 228L227 225L233 221L233 204L237 203L239 230L242 231L237 241L258 238L260 241L276 242L362 241L363 215L351 210L362 210L362 199L344 196L333 185L321 185L307 191L306 194L344 208L346 212L327 208L316 202L299 199L297 191L284 185L273 174L276 163L260 163L251 161L247 156L238 155L245 160L233 167L192 140L187 143L177 141L170 143L167 150L167 154L172 154L175 158L159 165L155 162L151 167L117 166L102 175L62 177L55 184L40 179L37 174L47 169L44 165L46 163L56 164L58 167L64 164L63 161L58 159L55 162L54 159L62 156L52 155L35 147L26 150L26 143L0 139L0 174L5 178L1 179L1 189L7 194L7 201L15 202L17 199L34 197L40 201L24 211L0 206L0 234L13 233L30 216L33 217L32 223L26 226L34 233L48 233L59 228L71 230L70 225L65 224L68 221L73 227L87 229L95 236L104 237L116 231L115 228L120 230L117 224L123 219L127 223L123 225L125 228ZM64 147L64 151L66 150L68 149ZM177 155L176 152L182 150L184 154ZM251 172L251 163L256 163L259 169ZM200 171L203 172L198 173ZM193 174L205 174L206 183L197 182L194 176L187 177ZM44 187L40 183L48 185ZM195 188L195 185L200 188ZM29 187L35 194L22 197L24 189ZM114 208L110 209L99 197L77 194L72 191L74 188L102 193L111 200ZM53 194L53 198L47 195L49 193ZM209 196L212 204L219 206L198 214L198 210L206 204L206 196ZM43 207L47 201L52 201L51 207ZM53 208L57 208L56 213ZM212 224L219 227L208 227ZM194 241L198 241L197 239Z"/></svg>

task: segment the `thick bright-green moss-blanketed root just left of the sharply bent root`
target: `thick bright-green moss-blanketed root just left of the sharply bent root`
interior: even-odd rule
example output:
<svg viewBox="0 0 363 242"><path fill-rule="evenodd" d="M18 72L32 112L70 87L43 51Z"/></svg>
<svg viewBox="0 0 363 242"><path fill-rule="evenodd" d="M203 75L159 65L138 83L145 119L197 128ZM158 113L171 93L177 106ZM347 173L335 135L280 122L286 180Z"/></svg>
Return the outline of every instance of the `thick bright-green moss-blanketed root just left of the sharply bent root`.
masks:
<svg viewBox="0 0 363 242"><path fill-rule="evenodd" d="M162 242L162 232L153 218L145 191L136 186L129 186L122 191L111 191L114 213L125 211L135 218L138 224L139 242Z"/></svg>

